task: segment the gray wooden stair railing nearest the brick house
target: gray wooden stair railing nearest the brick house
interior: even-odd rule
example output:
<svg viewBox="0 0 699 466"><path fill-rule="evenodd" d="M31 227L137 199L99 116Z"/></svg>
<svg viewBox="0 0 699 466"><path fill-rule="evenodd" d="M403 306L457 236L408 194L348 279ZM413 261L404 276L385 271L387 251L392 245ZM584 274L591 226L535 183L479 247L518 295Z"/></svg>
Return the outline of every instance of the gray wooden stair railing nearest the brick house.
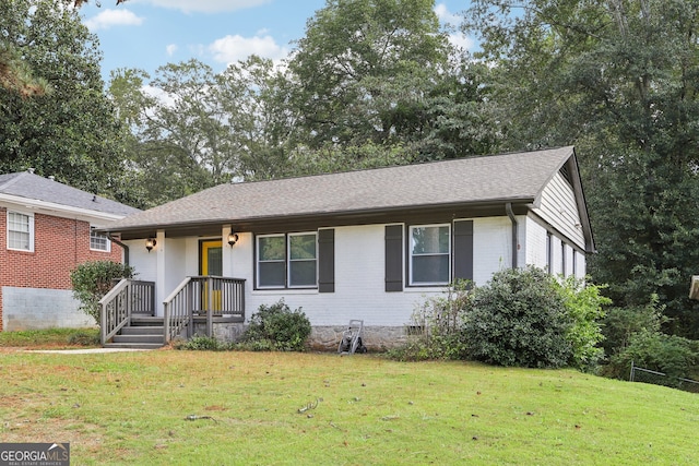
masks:
<svg viewBox="0 0 699 466"><path fill-rule="evenodd" d="M125 325L131 323L131 315L153 315L155 311L155 283L121 279L99 300L99 339L102 344Z"/></svg>

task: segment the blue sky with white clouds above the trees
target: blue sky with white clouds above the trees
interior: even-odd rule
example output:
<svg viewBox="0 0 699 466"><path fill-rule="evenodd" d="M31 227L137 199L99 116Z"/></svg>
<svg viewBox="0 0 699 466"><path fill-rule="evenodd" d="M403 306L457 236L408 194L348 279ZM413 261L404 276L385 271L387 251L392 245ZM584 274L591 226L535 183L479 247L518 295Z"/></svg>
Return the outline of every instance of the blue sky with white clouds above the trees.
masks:
<svg viewBox="0 0 699 466"><path fill-rule="evenodd" d="M98 8L97 4L102 3ZM304 37L306 21L325 0L91 0L85 25L99 37L105 80L117 68L157 67L197 58L215 71L251 53L280 60ZM465 0L437 0L443 24L458 25ZM462 47L472 41L454 34Z"/></svg>

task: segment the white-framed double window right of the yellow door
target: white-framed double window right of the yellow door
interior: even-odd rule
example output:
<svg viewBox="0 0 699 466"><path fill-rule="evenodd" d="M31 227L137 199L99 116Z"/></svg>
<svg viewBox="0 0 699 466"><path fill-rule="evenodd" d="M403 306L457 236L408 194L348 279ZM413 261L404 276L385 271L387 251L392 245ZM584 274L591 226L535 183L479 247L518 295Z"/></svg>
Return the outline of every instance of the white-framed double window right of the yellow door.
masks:
<svg viewBox="0 0 699 466"><path fill-rule="evenodd" d="M318 234L257 237L258 288L318 286Z"/></svg>

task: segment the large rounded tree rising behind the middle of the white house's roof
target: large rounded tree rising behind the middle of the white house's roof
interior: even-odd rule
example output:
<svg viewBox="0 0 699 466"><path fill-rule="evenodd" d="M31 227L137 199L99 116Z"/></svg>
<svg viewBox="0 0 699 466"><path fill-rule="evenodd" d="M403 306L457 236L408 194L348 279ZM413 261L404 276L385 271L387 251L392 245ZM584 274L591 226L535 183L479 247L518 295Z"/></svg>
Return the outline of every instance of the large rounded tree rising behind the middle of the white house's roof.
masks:
<svg viewBox="0 0 699 466"><path fill-rule="evenodd" d="M289 68L311 147L383 144L419 129L427 84L449 53L433 7L433 0L329 0L308 21Z"/></svg>

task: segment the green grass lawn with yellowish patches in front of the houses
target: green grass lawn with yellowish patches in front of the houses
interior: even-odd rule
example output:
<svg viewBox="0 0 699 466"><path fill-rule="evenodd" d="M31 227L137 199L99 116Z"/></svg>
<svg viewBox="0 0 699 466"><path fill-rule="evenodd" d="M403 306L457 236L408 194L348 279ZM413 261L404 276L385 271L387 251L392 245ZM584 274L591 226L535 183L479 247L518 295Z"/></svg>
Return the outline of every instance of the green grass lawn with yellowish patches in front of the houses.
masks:
<svg viewBox="0 0 699 466"><path fill-rule="evenodd" d="M73 465L695 465L699 397L370 355L0 349L0 439Z"/></svg>

